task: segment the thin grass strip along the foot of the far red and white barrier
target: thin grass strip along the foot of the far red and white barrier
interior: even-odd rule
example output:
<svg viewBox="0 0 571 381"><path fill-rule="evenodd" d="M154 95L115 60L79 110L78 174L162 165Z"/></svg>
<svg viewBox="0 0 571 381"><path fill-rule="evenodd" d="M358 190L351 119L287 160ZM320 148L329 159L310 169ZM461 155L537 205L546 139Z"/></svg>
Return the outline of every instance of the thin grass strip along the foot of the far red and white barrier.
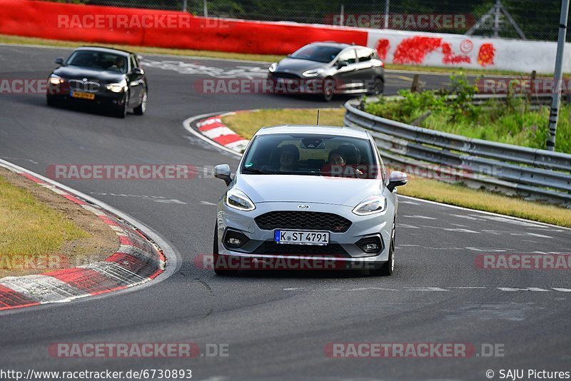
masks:
<svg viewBox="0 0 571 381"><path fill-rule="evenodd" d="M98 46L107 46L110 48L125 49L128 51L134 51L139 54L171 54L173 56L197 56L197 57L207 57L213 59L237 59L237 60L260 61L260 62L276 62L280 61L285 57L279 54L243 54L243 53L230 53L224 51L153 48L147 46L99 44L99 43L84 42L84 41L61 41L61 40L39 39L36 37L9 36L6 34L0 34L0 44L61 46L66 48L76 48L82 45L98 45ZM505 75L505 76L521 76L521 75L529 76L533 69L530 68L530 73L521 73L519 71L497 70L492 68L480 70L473 68L447 68L447 67L437 67L437 66L395 65L395 64L386 64L385 67L388 70L403 70L403 71L415 71L415 72L427 72L427 73L448 74L452 72L461 71L465 74L475 74L475 75L488 74L488 75ZM542 74L553 76L553 73L542 73ZM571 78L571 73L565 73L563 76L565 78Z"/></svg>

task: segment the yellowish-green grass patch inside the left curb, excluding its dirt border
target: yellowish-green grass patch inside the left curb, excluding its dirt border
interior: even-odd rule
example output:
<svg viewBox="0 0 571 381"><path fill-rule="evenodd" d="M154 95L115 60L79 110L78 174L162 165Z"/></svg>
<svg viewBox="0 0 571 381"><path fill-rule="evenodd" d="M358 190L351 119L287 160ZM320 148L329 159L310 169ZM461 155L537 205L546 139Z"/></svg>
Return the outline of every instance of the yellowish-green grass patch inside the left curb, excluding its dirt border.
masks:
<svg viewBox="0 0 571 381"><path fill-rule="evenodd" d="M0 256L58 253L64 243L89 233L0 177Z"/></svg>

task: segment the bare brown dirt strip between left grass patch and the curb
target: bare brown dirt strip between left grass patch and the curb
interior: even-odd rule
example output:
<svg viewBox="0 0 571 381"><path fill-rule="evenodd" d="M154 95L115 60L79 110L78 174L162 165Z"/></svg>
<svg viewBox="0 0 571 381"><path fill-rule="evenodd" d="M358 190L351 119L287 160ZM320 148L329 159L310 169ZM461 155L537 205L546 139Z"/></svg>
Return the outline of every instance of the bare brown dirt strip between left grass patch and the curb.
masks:
<svg viewBox="0 0 571 381"><path fill-rule="evenodd" d="M78 265L86 265L87 263L104 260L109 255L115 253L119 248L119 240L116 233L109 228L106 223L103 223L103 221L94 215L94 213L81 208L80 205L43 186L39 186L18 173L0 168L0 176L14 186L28 190L34 195L36 200L48 205L51 209L56 210L56 212L63 214L65 218L73 221L81 229L89 233L89 237L69 240L64 243L57 253L59 260L50 260L49 268L45 268L45 266L38 266L39 268L29 268L26 270L6 270L0 268L0 278L9 275L17 276L46 273L47 271L57 270L59 268L73 268ZM46 226L46 229L49 229L49 226ZM44 253L30 253L30 255L44 255Z"/></svg>

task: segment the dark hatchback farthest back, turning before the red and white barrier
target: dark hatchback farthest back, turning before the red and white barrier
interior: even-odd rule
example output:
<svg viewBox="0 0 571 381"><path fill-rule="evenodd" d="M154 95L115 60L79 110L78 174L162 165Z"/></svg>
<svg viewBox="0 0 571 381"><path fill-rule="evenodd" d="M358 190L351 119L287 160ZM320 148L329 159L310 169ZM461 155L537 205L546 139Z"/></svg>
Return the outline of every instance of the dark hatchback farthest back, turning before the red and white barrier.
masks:
<svg viewBox="0 0 571 381"><path fill-rule="evenodd" d="M285 83L286 88L296 86L293 91L320 93L330 101L335 94L383 93L384 66L375 49L315 42L271 64L268 79L276 88Z"/></svg>

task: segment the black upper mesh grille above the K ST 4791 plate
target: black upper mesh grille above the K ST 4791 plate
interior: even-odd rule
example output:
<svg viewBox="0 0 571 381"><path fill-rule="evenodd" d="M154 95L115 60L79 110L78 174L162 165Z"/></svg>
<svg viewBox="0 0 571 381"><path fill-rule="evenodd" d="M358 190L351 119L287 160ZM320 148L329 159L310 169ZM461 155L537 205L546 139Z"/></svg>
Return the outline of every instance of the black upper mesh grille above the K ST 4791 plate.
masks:
<svg viewBox="0 0 571 381"><path fill-rule="evenodd" d="M347 218L321 212L276 211L258 215L254 220L262 230L328 230L345 233L351 226Z"/></svg>

